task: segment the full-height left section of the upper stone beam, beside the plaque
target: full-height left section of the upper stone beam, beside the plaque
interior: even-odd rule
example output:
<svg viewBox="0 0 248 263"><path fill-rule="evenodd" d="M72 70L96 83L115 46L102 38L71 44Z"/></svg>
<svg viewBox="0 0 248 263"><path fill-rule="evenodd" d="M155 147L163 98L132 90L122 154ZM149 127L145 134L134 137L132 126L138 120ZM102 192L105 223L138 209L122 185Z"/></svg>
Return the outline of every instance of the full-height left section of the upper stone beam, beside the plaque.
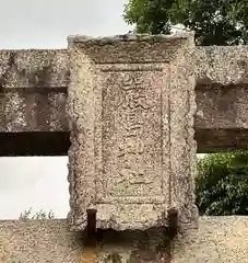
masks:
<svg viewBox="0 0 248 263"><path fill-rule="evenodd" d="M68 80L66 49L0 52L0 156L67 155Z"/></svg>

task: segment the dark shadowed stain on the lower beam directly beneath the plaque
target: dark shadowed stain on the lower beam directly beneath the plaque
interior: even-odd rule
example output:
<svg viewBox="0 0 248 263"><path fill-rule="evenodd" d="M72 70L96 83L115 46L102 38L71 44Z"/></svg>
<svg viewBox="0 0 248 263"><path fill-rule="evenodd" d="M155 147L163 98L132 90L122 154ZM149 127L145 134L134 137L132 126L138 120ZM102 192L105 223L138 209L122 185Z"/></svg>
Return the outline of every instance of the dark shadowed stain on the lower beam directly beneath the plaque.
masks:
<svg viewBox="0 0 248 263"><path fill-rule="evenodd" d="M97 248L101 262L139 263L170 262L170 238L165 227L142 230L117 231L97 229L88 236L86 229L78 232L76 242L86 250Z"/></svg>

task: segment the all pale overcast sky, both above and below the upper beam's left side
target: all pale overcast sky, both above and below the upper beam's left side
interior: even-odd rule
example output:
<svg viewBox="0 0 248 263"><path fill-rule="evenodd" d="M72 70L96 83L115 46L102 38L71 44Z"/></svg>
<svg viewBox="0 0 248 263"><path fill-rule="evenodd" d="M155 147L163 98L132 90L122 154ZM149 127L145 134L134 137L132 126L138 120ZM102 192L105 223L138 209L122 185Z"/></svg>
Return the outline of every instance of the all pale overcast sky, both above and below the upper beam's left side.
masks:
<svg viewBox="0 0 248 263"><path fill-rule="evenodd" d="M67 36L125 34L127 0L0 0L0 48L64 48ZM0 146L1 147L1 146ZM67 157L0 158L0 219L69 209Z"/></svg>

